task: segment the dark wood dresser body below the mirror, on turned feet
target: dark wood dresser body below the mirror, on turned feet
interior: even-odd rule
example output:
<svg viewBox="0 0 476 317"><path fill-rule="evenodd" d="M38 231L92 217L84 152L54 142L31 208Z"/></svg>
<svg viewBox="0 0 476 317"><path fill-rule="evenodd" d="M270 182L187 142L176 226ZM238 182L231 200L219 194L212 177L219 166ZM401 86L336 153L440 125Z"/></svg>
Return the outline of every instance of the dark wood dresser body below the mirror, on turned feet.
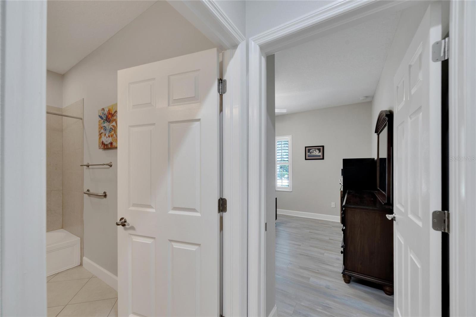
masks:
<svg viewBox="0 0 476 317"><path fill-rule="evenodd" d="M383 286L393 295L393 221L390 205L384 205L375 191L347 190L342 206L342 277L366 279Z"/></svg>

